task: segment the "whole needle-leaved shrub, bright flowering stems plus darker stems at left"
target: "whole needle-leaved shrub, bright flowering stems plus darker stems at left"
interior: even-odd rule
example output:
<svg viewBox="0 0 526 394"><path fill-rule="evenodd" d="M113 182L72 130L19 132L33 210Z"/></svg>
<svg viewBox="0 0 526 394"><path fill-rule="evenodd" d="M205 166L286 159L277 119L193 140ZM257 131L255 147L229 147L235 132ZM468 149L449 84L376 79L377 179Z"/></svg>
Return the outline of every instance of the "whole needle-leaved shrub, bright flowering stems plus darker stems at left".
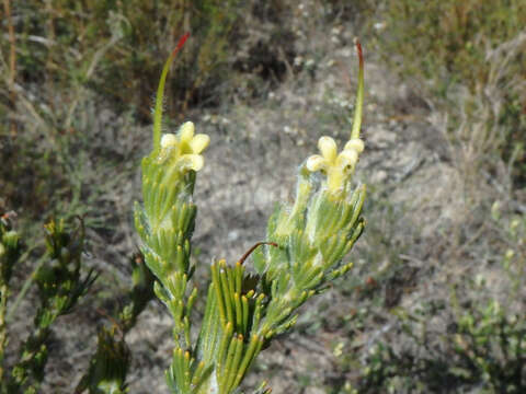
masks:
<svg viewBox="0 0 526 394"><path fill-rule="evenodd" d="M261 350L294 326L299 306L352 268L353 264L344 258L364 231L365 186L354 187L352 182L364 150L359 138L364 63L362 47L356 43L358 91L353 129L344 149L339 153L331 137L321 137L320 154L311 155L299 167L294 204L277 207L271 216L266 241L256 243L233 266L225 260L214 262L206 296L198 292L191 280L195 271L190 259L196 216L193 190L209 138L194 135L190 121L178 134L161 136L167 74L186 38L187 35L183 36L164 65L153 115L153 146L141 163L144 204L136 204L135 223L145 264L140 256L133 259L129 301L114 326L100 331L96 352L77 386L79 393L126 392L130 352L125 335L153 294L173 318L175 345L167 371L170 390L237 392ZM52 221L46 233L45 263L35 269L39 305L28 338L21 345L19 361L10 368L0 364L5 376L0 383L1 393L38 391L45 378L52 325L73 310L96 279L93 269L85 275L81 269L82 220L72 231L66 230L64 221ZM251 254L254 271L249 273L244 262ZM19 256L19 236L2 216L0 361L7 344L9 280ZM191 312L197 298L206 299L206 305L196 337ZM270 390L262 385L256 393Z"/></svg>

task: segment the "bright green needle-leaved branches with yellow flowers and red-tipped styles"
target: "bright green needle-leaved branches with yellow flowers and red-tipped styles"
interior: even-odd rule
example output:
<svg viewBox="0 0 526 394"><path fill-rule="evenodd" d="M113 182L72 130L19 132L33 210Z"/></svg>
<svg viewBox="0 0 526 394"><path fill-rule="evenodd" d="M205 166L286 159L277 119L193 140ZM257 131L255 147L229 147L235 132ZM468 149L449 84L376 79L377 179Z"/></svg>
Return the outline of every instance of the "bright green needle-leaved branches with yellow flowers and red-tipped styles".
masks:
<svg viewBox="0 0 526 394"><path fill-rule="evenodd" d="M180 40L178 49L184 43ZM160 136L164 66L153 125L153 149L142 159L144 206L136 204L136 229L145 262L157 277L156 296L173 318L175 347L167 382L173 393L233 393L264 346L287 332L309 298L345 274L344 257L361 236L365 186L352 188L351 177L364 148L359 139L363 101L363 57L359 43L358 94L351 140L338 154L332 138L319 141L321 155L310 157L298 175L293 206L283 205L268 220L267 242L254 245L233 266L210 266L211 281L198 337L194 343L192 308L199 296L191 282L191 237L196 206L192 195L202 151L208 137L194 136L184 124L176 135ZM176 50L178 50L176 49ZM322 171L321 178L315 174ZM254 252L255 275L243 265Z"/></svg>

